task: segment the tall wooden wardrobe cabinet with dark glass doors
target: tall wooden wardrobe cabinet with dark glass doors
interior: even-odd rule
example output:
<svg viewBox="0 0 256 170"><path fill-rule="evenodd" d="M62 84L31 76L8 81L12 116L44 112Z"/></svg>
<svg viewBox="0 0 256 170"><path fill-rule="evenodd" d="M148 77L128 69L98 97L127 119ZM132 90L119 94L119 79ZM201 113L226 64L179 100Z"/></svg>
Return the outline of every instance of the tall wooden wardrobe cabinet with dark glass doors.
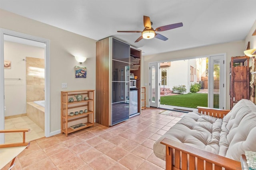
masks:
<svg viewBox="0 0 256 170"><path fill-rule="evenodd" d="M96 43L96 122L112 126L128 120L131 108L130 73L137 76L136 113L141 112L141 51L108 37ZM135 78L133 78L135 80Z"/></svg>

